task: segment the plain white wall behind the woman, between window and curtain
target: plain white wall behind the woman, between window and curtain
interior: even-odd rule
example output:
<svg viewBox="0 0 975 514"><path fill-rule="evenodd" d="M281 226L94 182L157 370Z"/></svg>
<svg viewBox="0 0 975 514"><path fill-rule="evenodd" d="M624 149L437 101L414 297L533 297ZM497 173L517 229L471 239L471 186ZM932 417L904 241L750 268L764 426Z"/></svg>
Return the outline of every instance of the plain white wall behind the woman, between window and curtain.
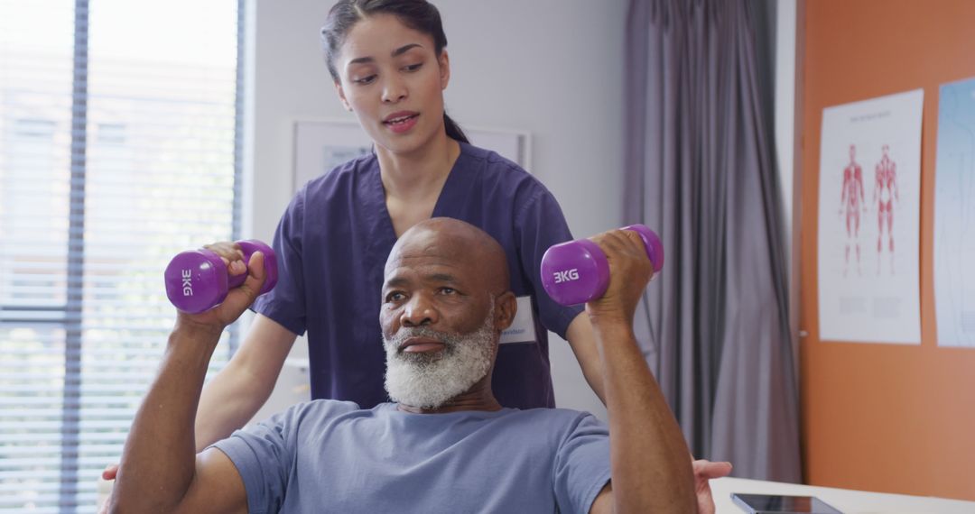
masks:
<svg viewBox="0 0 975 514"><path fill-rule="evenodd" d="M447 108L461 126L527 130L528 170L562 204L577 237L622 223L625 0L436 0L451 63ZM251 0L248 236L270 240L292 197L292 123L354 121L331 87L319 28L332 2ZM476 143L476 141L475 141ZM259 194L254 194L259 192ZM564 341L552 335L560 406L604 408ZM304 342L292 355L304 354ZM263 416L307 394L286 369ZM295 389L298 392L294 392Z"/></svg>

